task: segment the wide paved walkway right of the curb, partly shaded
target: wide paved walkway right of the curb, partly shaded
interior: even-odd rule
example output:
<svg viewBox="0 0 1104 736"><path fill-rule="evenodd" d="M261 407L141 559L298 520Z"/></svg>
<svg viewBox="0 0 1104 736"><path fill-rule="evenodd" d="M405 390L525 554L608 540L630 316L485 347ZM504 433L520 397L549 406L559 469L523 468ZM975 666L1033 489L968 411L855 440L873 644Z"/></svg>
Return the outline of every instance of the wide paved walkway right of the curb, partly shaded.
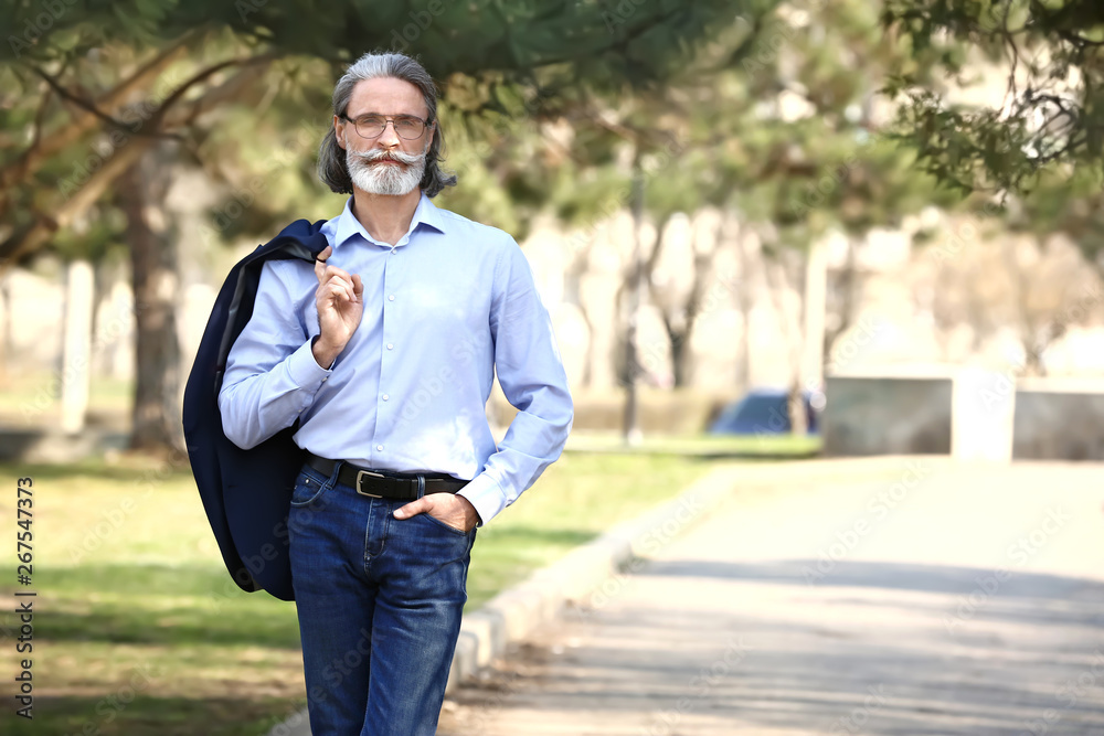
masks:
<svg viewBox="0 0 1104 736"><path fill-rule="evenodd" d="M438 734L1104 736L1104 466L880 460L657 533Z"/></svg>

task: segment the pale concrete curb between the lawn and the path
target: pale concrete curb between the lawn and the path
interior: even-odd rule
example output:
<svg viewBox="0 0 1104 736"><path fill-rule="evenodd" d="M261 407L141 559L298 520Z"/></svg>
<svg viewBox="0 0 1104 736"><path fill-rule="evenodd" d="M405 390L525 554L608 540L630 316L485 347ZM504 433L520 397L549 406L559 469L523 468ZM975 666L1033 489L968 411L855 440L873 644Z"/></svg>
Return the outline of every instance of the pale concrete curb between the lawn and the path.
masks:
<svg viewBox="0 0 1104 736"><path fill-rule="evenodd" d="M591 596L594 604L595 591L634 558L656 552L716 506L743 471L744 467L733 465L714 469L671 501L614 526L465 614L445 692L473 681L481 669L503 657L509 644L555 620L569 602L584 604ZM306 710L278 724L268 736L310 736Z"/></svg>

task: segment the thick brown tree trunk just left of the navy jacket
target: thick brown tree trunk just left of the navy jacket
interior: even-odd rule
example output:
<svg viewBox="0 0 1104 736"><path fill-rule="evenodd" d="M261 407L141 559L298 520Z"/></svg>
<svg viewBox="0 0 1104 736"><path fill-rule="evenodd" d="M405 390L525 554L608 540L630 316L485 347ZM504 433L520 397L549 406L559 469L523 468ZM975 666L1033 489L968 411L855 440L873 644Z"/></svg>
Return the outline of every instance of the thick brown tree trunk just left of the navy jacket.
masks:
<svg viewBox="0 0 1104 736"><path fill-rule="evenodd" d="M159 147L158 152L164 148ZM169 162L151 154L118 181L127 216L137 327L134 427L130 448L173 455L182 450L180 344L177 338L179 277L176 244L164 218L151 222L150 207L163 201ZM146 175L144 175L146 174Z"/></svg>

